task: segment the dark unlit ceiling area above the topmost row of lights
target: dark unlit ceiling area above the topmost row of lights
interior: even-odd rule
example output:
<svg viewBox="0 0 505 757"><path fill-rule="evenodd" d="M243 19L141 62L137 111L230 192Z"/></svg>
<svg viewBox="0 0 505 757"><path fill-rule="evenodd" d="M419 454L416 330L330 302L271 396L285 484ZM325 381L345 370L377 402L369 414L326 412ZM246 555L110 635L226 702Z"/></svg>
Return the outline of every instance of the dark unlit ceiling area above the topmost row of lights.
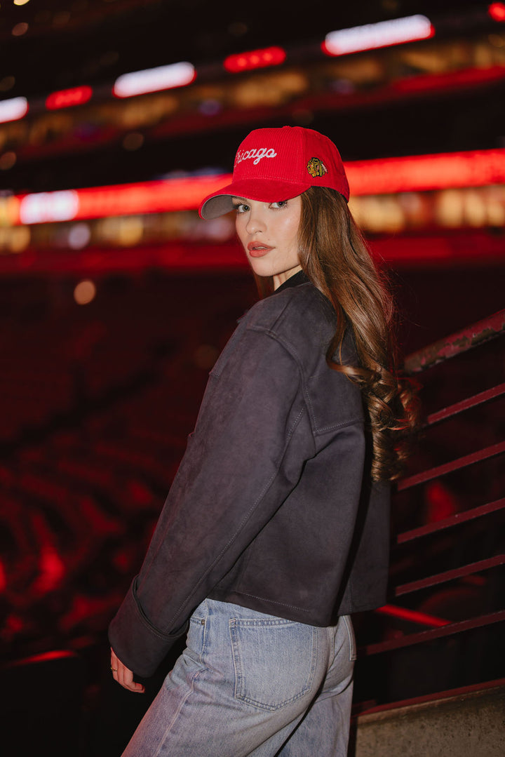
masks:
<svg viewBox="0 0 505 757"><path fill-rule="evenodd" d="M219 62L233 52L321 41L326 33L348 26L486 5L457 0L12 2L0 7L4 97L45 94L175 61ZM11 85L7 91L5 79Z"/></svg>

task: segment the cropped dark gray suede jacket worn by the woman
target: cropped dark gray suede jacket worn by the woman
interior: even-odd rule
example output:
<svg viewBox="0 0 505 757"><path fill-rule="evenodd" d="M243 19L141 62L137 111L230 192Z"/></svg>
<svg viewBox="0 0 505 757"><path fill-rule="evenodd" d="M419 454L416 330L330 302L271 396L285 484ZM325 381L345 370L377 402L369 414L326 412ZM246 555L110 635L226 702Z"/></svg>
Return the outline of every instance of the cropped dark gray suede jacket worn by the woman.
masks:
<svg viewBox="0 0 505 757"><path fill-rule="evenodd" d="M334 331L303 273L238 322L109 629L136 674L205 597L317 626L384 603L389 487L369 481L360 389L326 363ZM342 358L355 363L351 335Z"/></svg>

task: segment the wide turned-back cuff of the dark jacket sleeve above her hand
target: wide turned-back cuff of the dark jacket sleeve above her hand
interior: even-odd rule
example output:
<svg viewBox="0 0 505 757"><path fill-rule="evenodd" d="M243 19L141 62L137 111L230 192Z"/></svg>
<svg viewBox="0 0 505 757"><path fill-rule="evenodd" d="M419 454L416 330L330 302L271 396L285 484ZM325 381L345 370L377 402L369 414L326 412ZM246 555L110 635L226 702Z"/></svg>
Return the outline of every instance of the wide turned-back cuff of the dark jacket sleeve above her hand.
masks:
<svg viewBox="0 0 505 757"><path fill-rule="evenodd" d="M136 597L137 578L109 626L109 641L123 665L141 678L156 671L173 643L185 634L189 621L174 631L164 634L148 621Z"/></svg>

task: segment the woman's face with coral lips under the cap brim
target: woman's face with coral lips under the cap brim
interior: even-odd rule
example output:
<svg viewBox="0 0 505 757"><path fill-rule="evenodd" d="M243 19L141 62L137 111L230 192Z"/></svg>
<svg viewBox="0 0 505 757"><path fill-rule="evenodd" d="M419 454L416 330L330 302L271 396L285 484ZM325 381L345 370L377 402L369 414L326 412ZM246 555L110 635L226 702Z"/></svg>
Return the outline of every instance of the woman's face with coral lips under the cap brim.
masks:
<svg viewBox="0 0 505 757"><path fill-rule="evenodd" d="M280 202L234 197L235 227L251 268L258 276L273 276L274 288L301 270L298 228L301 196Z"/></svg>

